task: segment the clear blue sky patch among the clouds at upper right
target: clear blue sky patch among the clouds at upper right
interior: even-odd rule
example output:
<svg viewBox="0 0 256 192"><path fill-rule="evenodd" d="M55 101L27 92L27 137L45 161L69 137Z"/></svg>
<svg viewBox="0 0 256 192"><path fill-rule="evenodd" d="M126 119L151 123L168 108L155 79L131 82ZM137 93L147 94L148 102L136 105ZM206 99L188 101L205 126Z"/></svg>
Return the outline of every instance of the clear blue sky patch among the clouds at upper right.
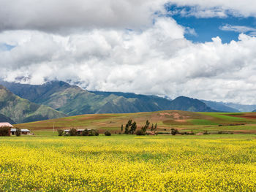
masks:
<svg viewBox="0 0 256 192"><path fill-rule="evenodd" d="M220 37L223 43L228 43L232 40L238 40L238 35L241 31L222 30L222 26L246 26L247 28L256 28L256 18L254 17L235 17L226 13L227 17L213 18L197 18L194 15L183 15L182 10L190 12L192 7L177 7L175 5L166 5L167 12L170 17L184 27L195 29L196 35L185 34L185 37L193 42L210 42L212 37ZM244 31L244 34L250 34L252 31ZM255 31L254 31L255 32Z"/></svg>

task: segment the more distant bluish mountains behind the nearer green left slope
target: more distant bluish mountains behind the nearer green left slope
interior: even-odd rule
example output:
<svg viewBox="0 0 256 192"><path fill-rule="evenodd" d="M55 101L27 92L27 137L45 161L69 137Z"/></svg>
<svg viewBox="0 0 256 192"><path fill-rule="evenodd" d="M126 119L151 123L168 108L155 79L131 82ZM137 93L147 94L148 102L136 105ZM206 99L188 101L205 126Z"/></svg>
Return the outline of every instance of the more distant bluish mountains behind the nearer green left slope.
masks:
<svg viewBox="0 0 256 192"><path fill-rule="evenodd" d="M187 110L213 112L202 101L180 97L171 101L159 96L135 93L86 91L67 82L53 81L43 85L3 82L18 96L37 104L44 104L67 115L94 113L154 112L159 110Z"/></svg>

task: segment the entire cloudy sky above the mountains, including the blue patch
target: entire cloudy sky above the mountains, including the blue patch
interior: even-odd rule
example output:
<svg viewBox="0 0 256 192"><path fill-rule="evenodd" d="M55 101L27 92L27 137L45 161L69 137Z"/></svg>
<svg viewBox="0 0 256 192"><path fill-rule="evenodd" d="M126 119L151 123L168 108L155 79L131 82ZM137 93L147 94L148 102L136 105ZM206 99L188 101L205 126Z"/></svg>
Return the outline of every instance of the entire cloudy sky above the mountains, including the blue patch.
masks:
<svg viewBox="0 0 256 192"><path fill-rule="evenodd" d="M0 77L256 104L255 0L0 0Z"/></svg>

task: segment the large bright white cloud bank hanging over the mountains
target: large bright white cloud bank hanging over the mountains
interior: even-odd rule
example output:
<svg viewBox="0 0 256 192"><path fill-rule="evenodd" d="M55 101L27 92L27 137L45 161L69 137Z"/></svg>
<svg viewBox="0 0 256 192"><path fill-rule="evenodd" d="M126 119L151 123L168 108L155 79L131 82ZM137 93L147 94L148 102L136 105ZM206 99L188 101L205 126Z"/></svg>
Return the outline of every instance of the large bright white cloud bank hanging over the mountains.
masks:
<svg viewBox="0 0 256 192"><path fill-rule="evenodd" d="M158 18L140 32L94 29L61 37L6 31L0 43L16 47L0 52L0 74L6 80L29 77L34 84L72 80L89 90L255 104L256 38L241 34L238 42L223 44L216 37L195 44L185 32L171 18Z"/></svg>

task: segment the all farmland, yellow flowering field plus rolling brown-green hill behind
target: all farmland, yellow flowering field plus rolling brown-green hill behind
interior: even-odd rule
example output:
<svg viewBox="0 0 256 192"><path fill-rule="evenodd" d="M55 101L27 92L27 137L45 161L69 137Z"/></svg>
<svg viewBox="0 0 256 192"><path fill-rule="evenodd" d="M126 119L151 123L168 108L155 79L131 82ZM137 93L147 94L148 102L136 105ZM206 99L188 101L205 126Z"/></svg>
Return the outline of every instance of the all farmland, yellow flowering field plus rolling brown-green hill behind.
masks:
<svg viewBox="0 0 256 192"><path fill-rule="evenodd" d="M255 117L160 111L18 124L35 135L0 138L0 191L256 191ZM159 134L118 134L129 119L138 128L157 123ZM112 136L58 137L57 128ZM172 136L170 128L195 135Z"/></svg>

